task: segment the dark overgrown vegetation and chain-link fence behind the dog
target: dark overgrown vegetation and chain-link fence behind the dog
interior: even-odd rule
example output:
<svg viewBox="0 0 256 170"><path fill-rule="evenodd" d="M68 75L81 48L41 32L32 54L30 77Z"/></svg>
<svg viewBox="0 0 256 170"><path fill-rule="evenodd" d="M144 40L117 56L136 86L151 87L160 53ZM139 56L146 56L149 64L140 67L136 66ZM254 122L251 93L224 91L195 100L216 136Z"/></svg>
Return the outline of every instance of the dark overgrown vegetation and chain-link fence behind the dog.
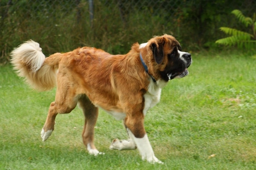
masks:
<svg viewBox="0 0 256 170"><path fill-rule="evenodd" d="M0 63L8 63L12 49L29 39L46 56L81 46L125 54L134 42L163 33L186 51L218 50L223 47L215 41L225 37L221 26L246 29L230 13L234 9L252 17L256 1L1 0Z"/></svg>

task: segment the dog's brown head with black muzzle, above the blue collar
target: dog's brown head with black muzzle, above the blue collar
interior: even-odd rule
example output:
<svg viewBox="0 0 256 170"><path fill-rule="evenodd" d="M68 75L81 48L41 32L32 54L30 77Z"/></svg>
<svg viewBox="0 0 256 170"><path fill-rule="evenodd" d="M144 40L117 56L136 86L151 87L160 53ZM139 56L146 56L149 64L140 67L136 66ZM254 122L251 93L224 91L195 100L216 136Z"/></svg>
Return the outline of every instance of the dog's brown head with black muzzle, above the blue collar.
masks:
<svg viewBox="0 0 256 170"><path fill-rule="evenodd" d="M180 43L171 35L163 35L140 44L140 52L148 66L148 73L156 80L168 82L188 75L191 54L181 51Z"/></svg>

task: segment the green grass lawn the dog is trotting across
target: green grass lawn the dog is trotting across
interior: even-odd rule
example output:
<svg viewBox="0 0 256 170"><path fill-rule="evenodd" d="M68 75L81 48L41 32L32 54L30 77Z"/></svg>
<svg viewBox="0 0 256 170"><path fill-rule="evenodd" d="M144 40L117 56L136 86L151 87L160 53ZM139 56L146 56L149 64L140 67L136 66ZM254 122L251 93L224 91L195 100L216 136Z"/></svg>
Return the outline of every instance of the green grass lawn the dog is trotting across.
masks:
<svg viewBox="0 0 256 170"><path fill-rule="evenodd" d="M192 55L188 77L169 82L145 118L155 155L164 165L142 161L137 150L109 150L111 141L125 139L126 133L122 122L101 110L95 144L105 155L86 152L79 108L58 115L52 136L42 142L55 90L35 92L10 65L1 66L0 169L255 169L255 58Z"/></svg>

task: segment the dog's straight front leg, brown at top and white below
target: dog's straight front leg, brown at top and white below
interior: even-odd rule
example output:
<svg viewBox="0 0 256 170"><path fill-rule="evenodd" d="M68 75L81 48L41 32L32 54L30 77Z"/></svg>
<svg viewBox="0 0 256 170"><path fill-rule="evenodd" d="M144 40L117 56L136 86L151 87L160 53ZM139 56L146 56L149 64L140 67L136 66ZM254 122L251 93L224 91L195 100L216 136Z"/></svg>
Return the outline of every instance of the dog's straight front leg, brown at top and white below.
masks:
<svg viewBox="0 0 256 170"><path fill-rule="evenodd" d="M142 156L143 160L147 160L151 163L160 163L163 164L159 159L156 158L152 146L148 140L148 135L144 129L143 119L125 119L125 126L128 131L130 138L136 144L140 155Z"/></svg>

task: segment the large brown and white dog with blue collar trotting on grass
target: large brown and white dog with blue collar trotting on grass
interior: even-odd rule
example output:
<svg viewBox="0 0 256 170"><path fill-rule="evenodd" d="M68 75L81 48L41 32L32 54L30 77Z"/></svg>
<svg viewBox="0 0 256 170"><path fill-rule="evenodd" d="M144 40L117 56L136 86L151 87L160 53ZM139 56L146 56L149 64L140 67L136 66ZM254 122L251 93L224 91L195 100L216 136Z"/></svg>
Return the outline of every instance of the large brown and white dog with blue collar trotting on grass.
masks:
<svg viewBox="0 0 256 170"><path fill-rule="evenodd" d="M125 55L83 47L45 57L39 44L29 40L14 48L11 63L32 88L46 91L57 86L41 131L43 141L52 134L57 114L70 113L78 103L85 116L83 143L90 154L102 154L94 145L94 126L102 108L124 120L129 136L128 140L114 139L110 149L137 148L143 160L162 163L149 143L144 117L170 80L188 75L191 54L182 52L173 36L134 43Z"/></svg>

